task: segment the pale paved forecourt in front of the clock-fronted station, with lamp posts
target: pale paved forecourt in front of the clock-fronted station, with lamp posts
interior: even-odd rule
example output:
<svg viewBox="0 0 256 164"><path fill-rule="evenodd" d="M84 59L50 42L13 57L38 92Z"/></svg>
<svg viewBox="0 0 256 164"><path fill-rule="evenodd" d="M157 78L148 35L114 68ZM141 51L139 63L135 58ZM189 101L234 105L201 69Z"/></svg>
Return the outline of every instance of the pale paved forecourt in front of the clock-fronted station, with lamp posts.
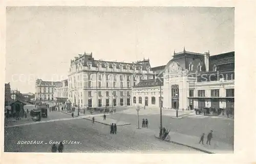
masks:
<svg viewBox="0 0 256 164"><path fill-rule="evenodd" d="M134 110L134 111L133 111ZM144 111L143 111L144 110ZM139 112L139 124L141 127L142 119L148 120L148 129L159 129L160 126L160 114L157 109L141 109ZM148 112L147 112L148 111ZM173 113L172 113L173 112ZM140 114L142 113L142 114ZM144 114L150 113L150 114ZM234 121L225 118L217 118L211 116L200 116L195 115L195 112L188 113L182 116L182 119L173 119L172 116L176 112L174 110L168 111L163 110L162 124L163 127L174 132L181 134L197 136L198 138L202 133L207 133L213 130L212 142L219 141L229 145L233 145L234 136ZM110 115L112 119L122 120L130 122L132 125L138 125L138 116L136 109L119 110L115 114Z"/></svg>

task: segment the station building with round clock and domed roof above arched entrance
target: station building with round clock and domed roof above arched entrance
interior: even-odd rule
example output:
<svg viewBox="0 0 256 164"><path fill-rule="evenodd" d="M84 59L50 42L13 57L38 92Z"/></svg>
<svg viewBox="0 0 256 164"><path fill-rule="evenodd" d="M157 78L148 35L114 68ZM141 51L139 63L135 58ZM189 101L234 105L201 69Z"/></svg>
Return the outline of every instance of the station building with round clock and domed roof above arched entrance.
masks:
<svg viewBox="0 0 256 164"><path fill-rule="evenodd" d="M168 109L234 108L234 52L210 56L184 49L151 71L156 79L133 88L134 105L159 107L162 100Z"/></svg>

